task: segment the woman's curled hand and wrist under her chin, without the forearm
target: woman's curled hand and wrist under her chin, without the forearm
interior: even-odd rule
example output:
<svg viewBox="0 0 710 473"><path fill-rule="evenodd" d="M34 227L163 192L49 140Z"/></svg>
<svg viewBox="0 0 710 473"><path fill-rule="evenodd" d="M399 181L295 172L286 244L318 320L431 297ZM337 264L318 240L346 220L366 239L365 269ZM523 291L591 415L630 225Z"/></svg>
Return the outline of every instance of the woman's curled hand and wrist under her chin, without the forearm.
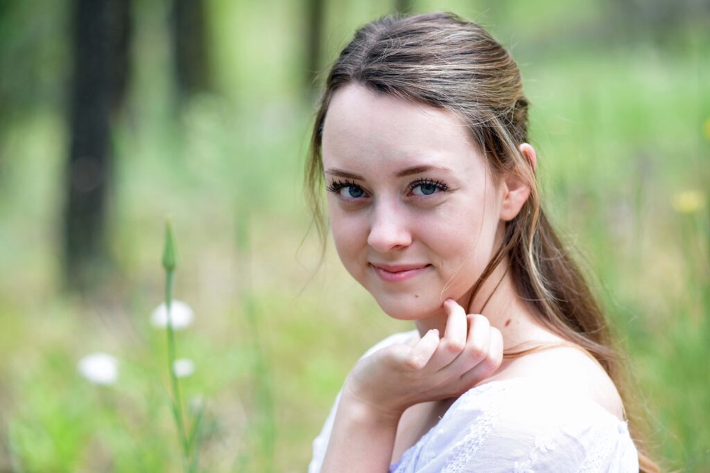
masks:
<svg viewBox="0 0 710 473"><path fill-rule="evenodd" d="M345 383L344 399L394 420L409 406L459 396L491 376L503 360L500 330L481 314L466 315L453 299L444 310L443 338L429 330L413 345L390 345L363 358Z"/></svg>

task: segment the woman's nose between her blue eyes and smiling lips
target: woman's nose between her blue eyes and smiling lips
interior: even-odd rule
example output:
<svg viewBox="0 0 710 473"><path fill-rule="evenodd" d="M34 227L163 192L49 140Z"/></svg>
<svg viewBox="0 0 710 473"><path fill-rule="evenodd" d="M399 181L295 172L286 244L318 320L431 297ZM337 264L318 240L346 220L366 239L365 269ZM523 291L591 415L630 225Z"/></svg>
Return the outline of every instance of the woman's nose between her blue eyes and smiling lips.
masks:
<svg viewBox="0 0 710 473"><path fill-rule="evenodd" d="M380 202L373 206L367 243L381 253L400 250L412 243L409 220L395 203Z"/></svg>

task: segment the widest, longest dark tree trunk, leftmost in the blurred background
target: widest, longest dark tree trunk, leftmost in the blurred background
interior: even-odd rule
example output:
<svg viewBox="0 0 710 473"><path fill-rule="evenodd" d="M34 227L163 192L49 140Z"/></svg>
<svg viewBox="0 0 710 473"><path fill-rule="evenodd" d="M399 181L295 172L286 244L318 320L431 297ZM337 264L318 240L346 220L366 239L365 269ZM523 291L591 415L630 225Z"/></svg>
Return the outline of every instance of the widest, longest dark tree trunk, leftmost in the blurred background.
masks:
<svg viewBox="0 0 710 473"><path fill-rule="evenodd" d="M129 77L130 2L76 0L74 7L64 271L70 289L87 289L105 256L111 116L124 101Z"/></svg>

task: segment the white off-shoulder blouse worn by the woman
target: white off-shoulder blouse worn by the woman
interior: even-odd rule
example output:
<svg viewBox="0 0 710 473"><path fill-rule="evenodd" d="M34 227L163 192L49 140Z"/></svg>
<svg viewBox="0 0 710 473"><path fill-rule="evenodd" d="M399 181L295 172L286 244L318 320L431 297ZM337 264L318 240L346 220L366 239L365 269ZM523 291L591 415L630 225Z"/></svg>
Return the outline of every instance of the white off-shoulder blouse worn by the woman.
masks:
<svg viewBox="0 0 710 473"><path fill-rule="evenodd" d="M363 357L413 336L395 333ZM309 473L320 472L340 395L313 441ZM638 452L627 423L593 400L521 377L466 391L389 472L638 473Z"/></svg>

